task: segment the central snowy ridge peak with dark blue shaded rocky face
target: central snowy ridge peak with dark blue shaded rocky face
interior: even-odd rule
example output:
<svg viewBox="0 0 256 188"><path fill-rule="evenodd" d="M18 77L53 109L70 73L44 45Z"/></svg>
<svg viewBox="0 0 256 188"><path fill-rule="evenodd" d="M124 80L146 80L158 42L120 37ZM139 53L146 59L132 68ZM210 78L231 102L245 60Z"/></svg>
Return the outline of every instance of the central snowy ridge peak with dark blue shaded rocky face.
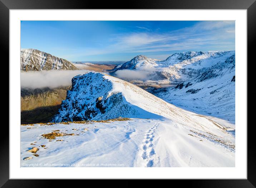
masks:
<svg viewBox="0 0 256 188"><path fill-rule="evenodd" d="M72 79L72 89L51 122L123 118L189 117L180 108L165 102L124 80L103 73L87 73Z"/></svg>

